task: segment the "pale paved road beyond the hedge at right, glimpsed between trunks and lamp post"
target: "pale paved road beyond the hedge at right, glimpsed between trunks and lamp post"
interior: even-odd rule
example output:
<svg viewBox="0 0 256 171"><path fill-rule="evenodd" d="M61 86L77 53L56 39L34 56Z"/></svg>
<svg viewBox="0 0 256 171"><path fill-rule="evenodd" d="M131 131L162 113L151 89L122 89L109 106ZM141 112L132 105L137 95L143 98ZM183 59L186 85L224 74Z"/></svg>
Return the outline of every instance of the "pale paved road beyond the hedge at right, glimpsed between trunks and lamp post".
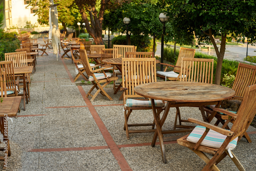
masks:
<svg viewBox="0 0 256 171"><path fill-rule="evenodd" d="M176 48L179 49L180 47L176 46ZM196 51L208 54L208 51L199 51L199 49L196 49ZM243 60L243 58L246 57L246 51L247 51L247 46L226 45L224 59ZM256 51L256 46L251 46L251 44L249 44L248 55L256 56L256 52L254 51ZM158 42L157 42L156 55L161 56L161 43L158 43ZM211 51L210 55L216 56L216 52Z"/></svg>

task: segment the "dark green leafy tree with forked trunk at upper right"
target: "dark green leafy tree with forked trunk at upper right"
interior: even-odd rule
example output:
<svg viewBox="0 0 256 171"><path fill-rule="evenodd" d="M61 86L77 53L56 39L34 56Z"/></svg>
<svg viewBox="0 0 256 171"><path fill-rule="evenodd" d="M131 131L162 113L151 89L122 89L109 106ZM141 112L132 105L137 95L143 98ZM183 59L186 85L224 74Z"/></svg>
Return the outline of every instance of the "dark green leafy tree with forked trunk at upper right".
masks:
<svg viewBox="0 0 256 171"><path fill-rule="evenodd" d="M239 0L151 0L158 6L165 6L175 33L184 38L195 34L198 42L211 42L217 55L215 84L220 84L222 61L226 49L227 35L244 42L256 41L256 13L254 1ZM218 50L214 36L221 36ZM192 40L191 40L192 41Z"/></svg>

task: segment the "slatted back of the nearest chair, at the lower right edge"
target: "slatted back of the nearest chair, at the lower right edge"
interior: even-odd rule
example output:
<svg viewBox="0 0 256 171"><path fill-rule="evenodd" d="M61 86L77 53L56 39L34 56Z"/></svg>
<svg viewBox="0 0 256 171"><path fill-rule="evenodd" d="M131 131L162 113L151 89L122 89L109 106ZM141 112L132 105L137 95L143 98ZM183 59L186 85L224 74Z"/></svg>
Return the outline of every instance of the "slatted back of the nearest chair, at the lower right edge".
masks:
<svg viewBox="0 0 256 171"><path fill-rule="evenodd" d="M242 136L252 122L256 111L256 84L246 87L243 95L243 101L237 111L237 118L231 128L231 131L234 132L232 140Z"/></svg>

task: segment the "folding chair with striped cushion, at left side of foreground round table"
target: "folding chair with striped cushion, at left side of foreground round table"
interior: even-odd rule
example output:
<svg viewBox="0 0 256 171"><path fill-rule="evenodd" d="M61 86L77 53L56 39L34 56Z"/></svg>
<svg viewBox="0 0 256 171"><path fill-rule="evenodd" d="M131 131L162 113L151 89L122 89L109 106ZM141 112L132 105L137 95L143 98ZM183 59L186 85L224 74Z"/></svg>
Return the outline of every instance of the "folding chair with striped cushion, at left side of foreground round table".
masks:
<svg viewBox="0 0 256 171"><path fill-rule="evenodd" d="M142 97L134 92L134 87L140 84L156 82L156 59L155 58L122 58L122 84L123 103L124 103L124 130L126 137L129 133L155 132L155 123L128 124L128 119L133 110L152 110L151 101L148 99L130 99ZM157 114L164 110L165 103L155 100ZM128 112L127 112L128 111ZM154 119L152 119L154 120ZM152 126L152 129L128 130L128 127Z"/></svg>

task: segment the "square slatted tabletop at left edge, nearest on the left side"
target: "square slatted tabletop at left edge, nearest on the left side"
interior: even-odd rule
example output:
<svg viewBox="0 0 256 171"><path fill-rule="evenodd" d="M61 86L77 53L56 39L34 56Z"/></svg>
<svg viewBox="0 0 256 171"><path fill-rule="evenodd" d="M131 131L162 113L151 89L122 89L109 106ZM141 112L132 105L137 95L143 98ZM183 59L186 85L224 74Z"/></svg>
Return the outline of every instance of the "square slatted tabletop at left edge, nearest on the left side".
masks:
<svg viewBox="0 0 256 171"><path fill-rule="evenodd" d="M2 97L3 101L0 103L0 117L3 116L16 116L19 104L21 101L21 96L15 97Z"/></svg>

